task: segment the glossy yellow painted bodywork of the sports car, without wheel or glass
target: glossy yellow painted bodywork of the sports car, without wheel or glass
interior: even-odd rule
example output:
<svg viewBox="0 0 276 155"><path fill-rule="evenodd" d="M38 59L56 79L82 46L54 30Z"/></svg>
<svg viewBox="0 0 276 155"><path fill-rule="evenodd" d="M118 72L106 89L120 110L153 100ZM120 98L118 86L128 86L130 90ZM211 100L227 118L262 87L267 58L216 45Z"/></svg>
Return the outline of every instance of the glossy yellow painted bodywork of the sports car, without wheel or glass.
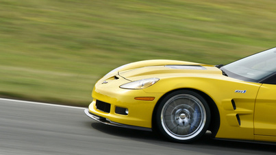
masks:
<svg viewBox="0 0 276 155"><path fill-rule="evenodd" d="M164 67L166 64L199 65L205 69L171 69ZM157 84L140 90L119 88L127 82L147 78L160 80ZM276 141L276 119L273 117L276 110L276 95L267 91L267 87L273 87L276 91L275 85L262 85L226 77L220 69L212 65L174 60L147 60L131 63L101 78L92 91L93 102L88 109L91 113L116 123L151 128L153 110L164 95L178 89L192 89L208 95L218 108L220 121L216 138ZM154 99L138 100L135 97ZM111 104L110 112L98 110L95 106L96 100ZM116 106L127 108L129 114L116 114Z"/></svg>

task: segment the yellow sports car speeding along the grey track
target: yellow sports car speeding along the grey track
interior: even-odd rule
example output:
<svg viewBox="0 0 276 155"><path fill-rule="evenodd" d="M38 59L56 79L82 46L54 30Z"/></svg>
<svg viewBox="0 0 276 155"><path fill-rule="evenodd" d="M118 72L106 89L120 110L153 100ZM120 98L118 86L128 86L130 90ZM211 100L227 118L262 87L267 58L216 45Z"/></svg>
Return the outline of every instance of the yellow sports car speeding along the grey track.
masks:
<svg viewBox="0 0 276 155"><path fill-rule="evenodd" d="M190 143L216 139L276 142L276 48L236 62L133 62L95 84L86 115L112 126L153 130Z"/></svg>

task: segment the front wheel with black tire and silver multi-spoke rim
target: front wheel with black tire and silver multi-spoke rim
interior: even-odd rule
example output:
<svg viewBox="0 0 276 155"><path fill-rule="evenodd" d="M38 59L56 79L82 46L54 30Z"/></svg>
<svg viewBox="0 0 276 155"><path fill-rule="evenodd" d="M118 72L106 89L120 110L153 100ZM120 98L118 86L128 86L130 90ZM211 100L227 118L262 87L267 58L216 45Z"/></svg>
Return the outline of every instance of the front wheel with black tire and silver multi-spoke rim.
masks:
<svg viewBox="0 0 276 155"><path fill-rule="evenodd" d="M211 114L199 93L181 90L166 95L153 118L154 130L169 141L191 143L205 134Z"/></svg>

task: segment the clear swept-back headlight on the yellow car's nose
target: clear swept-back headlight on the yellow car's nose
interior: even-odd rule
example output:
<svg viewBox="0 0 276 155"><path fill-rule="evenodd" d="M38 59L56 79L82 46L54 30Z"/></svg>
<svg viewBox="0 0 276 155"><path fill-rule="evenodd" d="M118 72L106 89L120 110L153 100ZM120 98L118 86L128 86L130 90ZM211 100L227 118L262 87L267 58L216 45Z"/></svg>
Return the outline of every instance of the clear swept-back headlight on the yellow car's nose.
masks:
<svg viewBox="0 0 276 155"><path fill-rule="evenodd" d="M156 82L158 82L158 78L149 78L149 79L142 79L134 82L129 82L127 84L123 84L120 88L127 88L127 89L142 89L152 86Z"/></svg>

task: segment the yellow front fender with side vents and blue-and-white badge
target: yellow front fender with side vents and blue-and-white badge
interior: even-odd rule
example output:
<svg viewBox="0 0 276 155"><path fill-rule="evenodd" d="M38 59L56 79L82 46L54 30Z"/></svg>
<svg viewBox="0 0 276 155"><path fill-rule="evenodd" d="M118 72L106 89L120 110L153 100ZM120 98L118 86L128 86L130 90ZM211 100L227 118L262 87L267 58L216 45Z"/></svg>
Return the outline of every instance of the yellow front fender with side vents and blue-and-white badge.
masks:
<svg viewBox="0 0 276 155"><path fill-rule="evenodd" d="M163 78L144 91L164 94L183 88L201 91L214 101L221 116L216 138L253 140L253 112L260 85L231 78L179 77ZM246 93L237 93L237 90Z"/></svg>

